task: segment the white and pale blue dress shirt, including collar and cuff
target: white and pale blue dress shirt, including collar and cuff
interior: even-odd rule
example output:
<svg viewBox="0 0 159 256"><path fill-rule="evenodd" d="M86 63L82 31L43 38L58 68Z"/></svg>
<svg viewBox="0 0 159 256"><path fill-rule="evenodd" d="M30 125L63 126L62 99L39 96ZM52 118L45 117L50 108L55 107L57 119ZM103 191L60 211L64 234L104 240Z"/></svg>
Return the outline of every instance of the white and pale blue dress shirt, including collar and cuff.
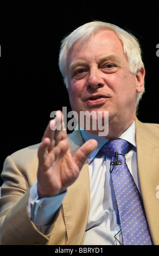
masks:
<svg viewBox="0 0 159 256"><path fill-rule="evenodd" d="M88 157L91 198L88 223L82 245L119 245L122 243L122 235L119 231L120 225L117 224L117 204L109 171L111 159L100 151L100 148L108 140L82 129L80 130L84 141L95 138L98 142L97 148ZM125 155L125 158L140 191L137 172L135 121L119 138L123 138L133 145L129 153ZM54 214L59 209L66 193L67 191L55 197L37 200L37 183L35 182L31 187L28 211L31 220L41 232L45 233L52 223Z"/></svg>

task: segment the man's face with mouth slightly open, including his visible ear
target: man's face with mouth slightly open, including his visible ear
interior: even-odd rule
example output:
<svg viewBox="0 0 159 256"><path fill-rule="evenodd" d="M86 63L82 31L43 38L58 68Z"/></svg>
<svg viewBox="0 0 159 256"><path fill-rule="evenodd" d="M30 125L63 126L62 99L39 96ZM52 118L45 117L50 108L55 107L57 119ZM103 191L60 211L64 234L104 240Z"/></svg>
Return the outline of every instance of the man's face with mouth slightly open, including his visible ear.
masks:
<svg viewBox="0 0 159 256"><path fill-rule="evenodd" d="M68 94L73 111L109 111L109 124L130 125L143 78L130 73L117 35L99 31L84 45L75 42L67 57Z"/></svg>

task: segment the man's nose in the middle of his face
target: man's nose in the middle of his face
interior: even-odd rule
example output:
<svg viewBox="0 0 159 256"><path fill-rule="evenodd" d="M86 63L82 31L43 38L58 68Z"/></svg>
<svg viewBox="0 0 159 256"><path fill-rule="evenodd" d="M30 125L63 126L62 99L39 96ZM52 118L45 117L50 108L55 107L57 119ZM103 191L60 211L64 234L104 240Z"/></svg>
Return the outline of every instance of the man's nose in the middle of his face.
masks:
<svg viewBox="0 0 159 256"><path fill-rule="evenodd" d="M91 68L88 76L87 86L97 89L104 86L104 78L102 72L98 68Z"/></svg>

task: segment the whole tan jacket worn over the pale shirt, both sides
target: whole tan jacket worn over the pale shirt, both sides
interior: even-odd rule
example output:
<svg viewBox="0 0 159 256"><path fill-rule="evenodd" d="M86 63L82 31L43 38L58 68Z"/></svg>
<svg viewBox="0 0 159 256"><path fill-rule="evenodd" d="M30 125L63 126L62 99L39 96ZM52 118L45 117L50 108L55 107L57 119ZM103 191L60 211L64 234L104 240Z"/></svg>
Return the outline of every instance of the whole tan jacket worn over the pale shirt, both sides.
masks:
<svg viewBox="0 0 159 256"><path fill-rule="evenodd" d="M79 131L69 135L72 154L83 143ZM159 125L143 124L136 118L138 174L142 197L154 245L159 245ZM0 199L1 245L80 245L90 207L90 184L87 162L79 178L68 188L56 220L48 235L41 234L30 221L28 192L36 181L39 144L8 156L2 172L5 180Z"/></svg>

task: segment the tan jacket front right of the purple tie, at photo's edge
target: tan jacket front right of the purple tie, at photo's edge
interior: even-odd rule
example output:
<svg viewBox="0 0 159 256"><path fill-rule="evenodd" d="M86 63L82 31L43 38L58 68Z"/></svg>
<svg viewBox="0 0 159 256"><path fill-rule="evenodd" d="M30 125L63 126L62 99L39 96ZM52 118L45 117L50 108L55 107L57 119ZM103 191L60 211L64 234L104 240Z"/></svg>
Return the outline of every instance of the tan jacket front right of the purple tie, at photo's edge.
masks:
<svg viewBox="0 0 159 256"><path fill-rule="evenodd" d="M155 137L155 129L158 133L158 127L136 119L139 182L152 240L154 245L159 245L159 199L156 196L159 185L159 139Z"/></svg>

